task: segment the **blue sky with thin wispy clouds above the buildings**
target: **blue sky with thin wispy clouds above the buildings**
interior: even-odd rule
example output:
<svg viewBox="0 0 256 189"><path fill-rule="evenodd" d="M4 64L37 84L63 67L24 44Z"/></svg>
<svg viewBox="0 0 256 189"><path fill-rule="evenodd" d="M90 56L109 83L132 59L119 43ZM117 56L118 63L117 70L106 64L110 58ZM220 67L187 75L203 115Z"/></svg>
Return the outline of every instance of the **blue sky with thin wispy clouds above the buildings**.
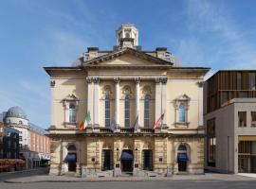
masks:
<svg viewBox="0 0 256 189"><path fill-rule="evenodd" d="M166 46L184 66L256 68L256 1L8 0L0 3L0 112L21 106L48 128L44 66L69 66L87 46L111 49L129 22L143 49Z"/></svg>

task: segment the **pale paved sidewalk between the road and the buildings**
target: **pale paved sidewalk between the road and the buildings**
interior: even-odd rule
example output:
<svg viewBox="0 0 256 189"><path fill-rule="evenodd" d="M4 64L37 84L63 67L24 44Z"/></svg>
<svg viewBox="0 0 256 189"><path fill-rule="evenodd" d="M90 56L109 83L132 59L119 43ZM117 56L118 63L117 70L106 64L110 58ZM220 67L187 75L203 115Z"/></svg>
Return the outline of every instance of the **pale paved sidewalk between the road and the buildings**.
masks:
<svg viewBox="0 0 256 189"><path fill-rule="evenodd" d="M32 176L19 179L5 180L9 183L30 183L30 182L86 182L86 181L149 181L149 180L255 180L256 178L244 177L231 174L206 173L205 175L174 175L166 177L118 177L118 178L75 178L67 176Z"/></svg>

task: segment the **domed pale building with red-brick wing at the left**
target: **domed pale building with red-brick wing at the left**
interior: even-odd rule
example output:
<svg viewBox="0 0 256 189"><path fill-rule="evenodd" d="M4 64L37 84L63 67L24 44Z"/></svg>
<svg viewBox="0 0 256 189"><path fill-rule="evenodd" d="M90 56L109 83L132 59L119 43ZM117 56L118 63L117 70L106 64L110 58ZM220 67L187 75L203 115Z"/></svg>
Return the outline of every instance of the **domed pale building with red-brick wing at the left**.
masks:
<svg viewBox="0 0 256 189"><path fill-rule="evenodd" d="M19 131L19 157L26 161L26 168L34 168L50 160L49 138L44 129L29 123L26 112L20 107L11 107L4 112L5 128Z"/></svg>

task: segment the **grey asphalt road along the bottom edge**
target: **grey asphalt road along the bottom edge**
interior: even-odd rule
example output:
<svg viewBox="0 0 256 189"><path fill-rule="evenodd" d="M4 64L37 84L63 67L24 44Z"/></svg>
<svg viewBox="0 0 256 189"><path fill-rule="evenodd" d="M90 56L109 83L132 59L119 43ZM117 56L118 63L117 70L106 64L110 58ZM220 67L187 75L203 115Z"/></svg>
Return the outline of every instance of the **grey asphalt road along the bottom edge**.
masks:
<svg viewBox="0 0 256 189"><path fill-rule="evenodd" d="M254 189L256 181L180 180L180 181L101 181L0 183L0 189Z"/></svg>

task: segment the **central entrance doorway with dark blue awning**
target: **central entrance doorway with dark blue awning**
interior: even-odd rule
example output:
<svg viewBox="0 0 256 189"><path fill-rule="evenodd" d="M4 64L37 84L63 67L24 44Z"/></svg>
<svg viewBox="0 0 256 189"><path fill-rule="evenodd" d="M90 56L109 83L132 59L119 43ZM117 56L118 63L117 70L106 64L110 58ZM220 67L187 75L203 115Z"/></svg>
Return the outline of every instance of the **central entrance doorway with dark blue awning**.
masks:
<svg viewBox="0 0 256 189"><path fill-rule="evenodd" d="M121 170L124 172L132 172L134 163L133 151L131 149L124 149L121 152Z"/></svg>

